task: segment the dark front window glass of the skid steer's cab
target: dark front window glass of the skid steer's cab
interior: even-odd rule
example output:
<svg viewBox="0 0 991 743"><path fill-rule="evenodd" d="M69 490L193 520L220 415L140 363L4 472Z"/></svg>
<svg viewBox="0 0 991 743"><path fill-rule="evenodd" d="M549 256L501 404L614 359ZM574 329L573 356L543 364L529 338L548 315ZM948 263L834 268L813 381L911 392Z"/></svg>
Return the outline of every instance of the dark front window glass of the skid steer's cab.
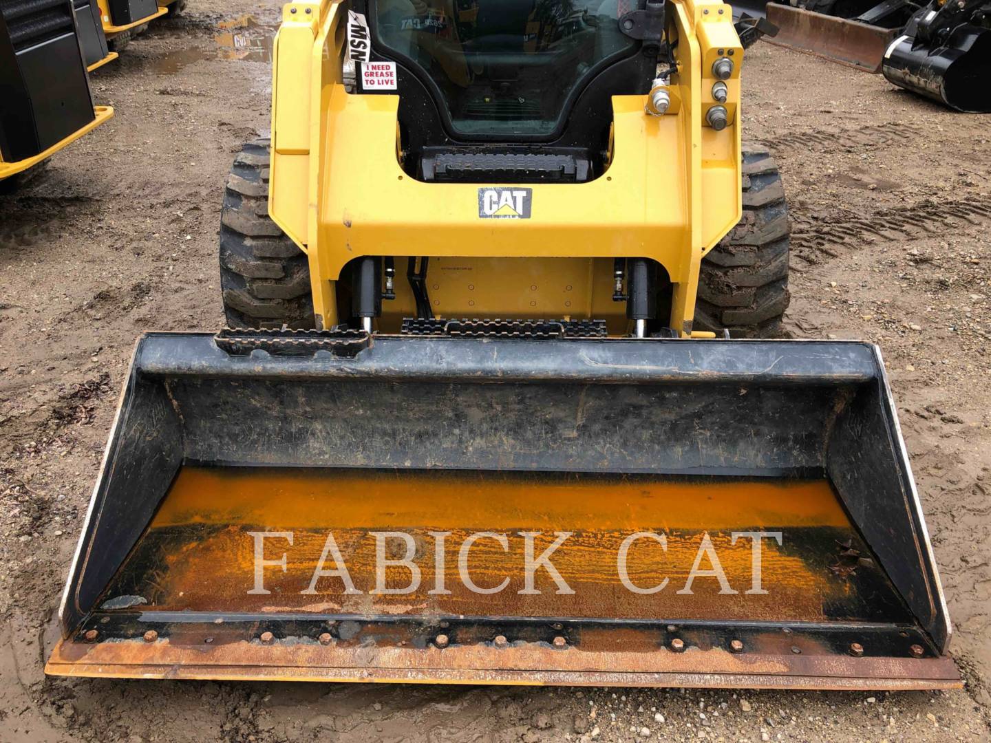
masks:
<svg viewBox="0 0 991 743"><path fill-rule="evenodd" d="M553 132L596 65L633 53L630 0L372 0L377 46L422 68L465 135Z"/></svg>

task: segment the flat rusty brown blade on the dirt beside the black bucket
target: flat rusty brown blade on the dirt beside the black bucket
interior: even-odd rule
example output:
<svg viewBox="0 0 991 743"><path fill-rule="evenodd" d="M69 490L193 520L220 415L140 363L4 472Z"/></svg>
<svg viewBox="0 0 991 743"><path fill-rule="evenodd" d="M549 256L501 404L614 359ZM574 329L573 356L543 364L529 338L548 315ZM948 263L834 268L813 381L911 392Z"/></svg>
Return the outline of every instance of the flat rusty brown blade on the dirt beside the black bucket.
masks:
<svg viewBox="0 0 991 743"><path fill-rule="evenodd" d="M767 20L779 29L769 43L814 53L867 72L881 71L884 53L898 35L894 29L778 3L768 3L766 14Z"/></svg>

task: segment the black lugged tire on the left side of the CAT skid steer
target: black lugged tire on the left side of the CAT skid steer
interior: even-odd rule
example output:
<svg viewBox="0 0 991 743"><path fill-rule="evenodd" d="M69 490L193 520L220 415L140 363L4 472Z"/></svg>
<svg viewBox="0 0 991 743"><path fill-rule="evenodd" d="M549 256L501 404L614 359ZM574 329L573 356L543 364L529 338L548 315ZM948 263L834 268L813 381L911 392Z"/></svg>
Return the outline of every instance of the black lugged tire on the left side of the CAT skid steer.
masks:
<svg viewBox="0 0 991 743"><path fill-rule="evenodd" d="M220 212L220 288L232 328L315 327L309 264L269 216L269 140L234 159Z"/></svg>

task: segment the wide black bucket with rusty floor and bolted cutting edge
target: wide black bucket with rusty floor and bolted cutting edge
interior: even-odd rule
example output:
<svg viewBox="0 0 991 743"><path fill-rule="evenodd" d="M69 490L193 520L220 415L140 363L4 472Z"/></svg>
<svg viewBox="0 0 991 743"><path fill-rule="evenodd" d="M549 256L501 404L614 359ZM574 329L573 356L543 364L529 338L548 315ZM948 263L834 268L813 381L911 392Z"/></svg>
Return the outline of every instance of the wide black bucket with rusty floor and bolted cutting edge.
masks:
<svg viewBox="0 0 991 743"><path fill-rule="evenodd" d="M139 341L48 673L959 686L875 347L298 338Z"/></svg>

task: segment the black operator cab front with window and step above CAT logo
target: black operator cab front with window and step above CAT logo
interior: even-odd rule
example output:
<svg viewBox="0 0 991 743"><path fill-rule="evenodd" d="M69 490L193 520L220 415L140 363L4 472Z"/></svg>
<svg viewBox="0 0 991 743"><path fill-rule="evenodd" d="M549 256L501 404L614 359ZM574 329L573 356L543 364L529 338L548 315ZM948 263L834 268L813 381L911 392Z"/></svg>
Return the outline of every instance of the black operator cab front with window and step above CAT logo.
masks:
<svg viewBox="0 0 991 743"><path fill-rule="evenodd" d="M611 96L645 94L668 59L651 6L645 37L645 0L353 0L396 85L369 89L358 62L351 89L398 93L400 159L420 180L591 180Z"/></svg>

